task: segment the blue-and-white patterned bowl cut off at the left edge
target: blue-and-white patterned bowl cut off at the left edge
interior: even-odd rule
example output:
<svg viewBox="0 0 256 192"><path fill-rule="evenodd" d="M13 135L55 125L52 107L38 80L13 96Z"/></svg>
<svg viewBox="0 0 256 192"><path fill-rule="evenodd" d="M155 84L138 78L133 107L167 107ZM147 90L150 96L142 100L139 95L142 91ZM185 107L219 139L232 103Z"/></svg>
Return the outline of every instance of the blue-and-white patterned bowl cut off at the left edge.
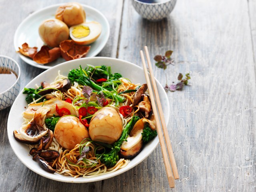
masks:
<svg viewBox="0 0 256 192"><path fill-rule="evenodd" d="M0 72L7 69L14 72L18 78L8 90L0 93L0 110L11 106L20 92L20 66L12 58L0 55Z"/></svg>

